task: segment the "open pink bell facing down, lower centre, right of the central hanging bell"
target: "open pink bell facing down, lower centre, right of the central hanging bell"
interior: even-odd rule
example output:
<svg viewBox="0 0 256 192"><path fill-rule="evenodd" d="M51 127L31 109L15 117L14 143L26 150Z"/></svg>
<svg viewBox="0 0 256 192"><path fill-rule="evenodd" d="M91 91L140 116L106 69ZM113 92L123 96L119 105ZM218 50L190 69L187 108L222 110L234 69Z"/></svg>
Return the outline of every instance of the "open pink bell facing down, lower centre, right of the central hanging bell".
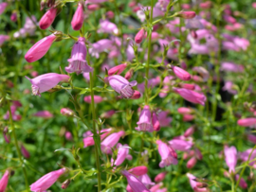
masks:
<svg viewBox="0 0 256 192"><path fill-rule="evenodd" d="M157 140L158 152L161 156L162 161L159 166L162 168L164 166L170 166L172 164L177 164L177 154L172 147L163 143L161 140Z"/></svg>

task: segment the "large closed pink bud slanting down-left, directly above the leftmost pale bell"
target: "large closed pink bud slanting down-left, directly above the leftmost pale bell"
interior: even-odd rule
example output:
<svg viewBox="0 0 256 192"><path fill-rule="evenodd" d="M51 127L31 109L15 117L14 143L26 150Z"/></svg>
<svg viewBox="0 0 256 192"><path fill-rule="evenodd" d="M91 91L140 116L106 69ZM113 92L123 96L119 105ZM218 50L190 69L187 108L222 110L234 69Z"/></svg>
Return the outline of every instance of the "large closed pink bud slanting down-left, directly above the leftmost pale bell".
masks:
<svg viewBox="0 0 256 192"><path fill-rule="evenodd" d="M56 38L57 37L54 34L51 34L34 44L27 51L25 55L25 60L27 62L34 62L43 58L46 55L46 52L49 50L50 45L56 40Z"/></svg>

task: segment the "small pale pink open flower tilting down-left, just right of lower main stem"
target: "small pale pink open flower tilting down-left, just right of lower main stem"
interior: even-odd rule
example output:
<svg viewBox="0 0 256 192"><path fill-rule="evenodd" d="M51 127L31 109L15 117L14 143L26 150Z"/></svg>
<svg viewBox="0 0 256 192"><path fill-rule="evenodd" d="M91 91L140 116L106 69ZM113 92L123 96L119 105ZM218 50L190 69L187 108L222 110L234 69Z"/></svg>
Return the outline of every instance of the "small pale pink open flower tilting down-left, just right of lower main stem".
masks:
<svg viewBox="0 0 256 192"><path fill-rule="evenodd" d="M132 160L133 157L129 154L129 146L127 144L124 144L123 146L121 144L117 145L118 148L118 157L115 161L115 166L120 166L125 159ZM111 162L113 163L114 160L111 159Z"/></svg>

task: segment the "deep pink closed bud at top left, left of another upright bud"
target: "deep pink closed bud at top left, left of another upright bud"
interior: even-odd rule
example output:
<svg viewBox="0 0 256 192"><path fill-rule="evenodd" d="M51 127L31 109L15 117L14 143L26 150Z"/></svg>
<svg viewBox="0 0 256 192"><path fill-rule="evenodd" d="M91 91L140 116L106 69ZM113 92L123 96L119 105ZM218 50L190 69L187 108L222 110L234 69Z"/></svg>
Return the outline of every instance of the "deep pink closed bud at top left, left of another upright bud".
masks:
<svg viewBox="0 0 256 192"><path fill-rule="evenodd" d="M39 22L40 28L45 30L49 27L54 22L57 11L57 8L48 9Z"/></svg>

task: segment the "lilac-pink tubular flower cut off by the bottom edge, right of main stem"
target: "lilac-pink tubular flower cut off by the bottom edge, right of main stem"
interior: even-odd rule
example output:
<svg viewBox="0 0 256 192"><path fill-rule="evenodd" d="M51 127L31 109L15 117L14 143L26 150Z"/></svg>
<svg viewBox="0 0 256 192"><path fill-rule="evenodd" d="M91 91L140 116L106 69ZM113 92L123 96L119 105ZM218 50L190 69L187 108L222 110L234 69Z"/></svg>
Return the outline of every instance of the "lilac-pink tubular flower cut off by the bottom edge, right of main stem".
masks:
<svg viewBox="0 0 256 192"><path fill-rule="evenodd" d="M141 183L134 175L129 173L127 170L122 170L121 174L127 179L128 184L134 192L150 192L147 187Z"/></svg>

